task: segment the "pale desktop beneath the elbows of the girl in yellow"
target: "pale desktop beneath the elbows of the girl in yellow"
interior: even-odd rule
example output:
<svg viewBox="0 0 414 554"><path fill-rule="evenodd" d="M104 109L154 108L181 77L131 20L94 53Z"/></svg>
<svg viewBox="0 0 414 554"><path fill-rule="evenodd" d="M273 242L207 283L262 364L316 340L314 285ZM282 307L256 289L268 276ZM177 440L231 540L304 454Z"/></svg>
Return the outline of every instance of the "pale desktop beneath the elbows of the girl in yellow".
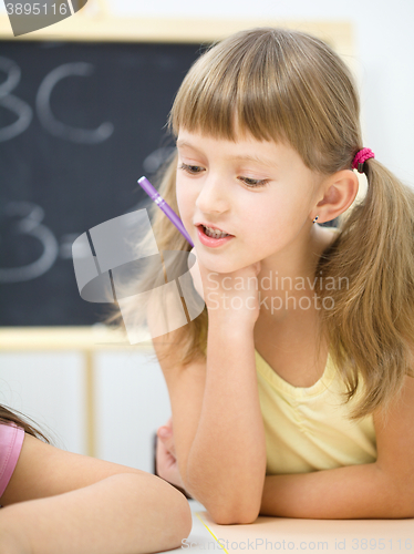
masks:
<svg viewBox="0 0 414 554"><path fill-rule="evenodd" d="M169 552L325 552L414 554L414 520L293 520L258 517L251 525L217 525L189 501L193 530Z"/></svg>

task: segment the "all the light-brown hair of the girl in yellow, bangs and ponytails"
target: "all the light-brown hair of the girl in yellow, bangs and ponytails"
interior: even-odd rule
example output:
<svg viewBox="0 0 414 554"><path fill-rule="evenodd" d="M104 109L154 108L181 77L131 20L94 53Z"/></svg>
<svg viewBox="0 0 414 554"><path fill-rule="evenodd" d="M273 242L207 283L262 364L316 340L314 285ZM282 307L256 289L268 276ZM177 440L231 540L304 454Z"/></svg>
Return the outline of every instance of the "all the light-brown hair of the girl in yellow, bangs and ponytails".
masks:
<svg viewBox="0 0 414 554"><path fill-rule="evenodd" d="M351 168L363 146L359 112L350 71L330 47L306 33L261 28L214 44L194 63L168 123L176 135L185 127L231 141L240 133L281 141L310 170L330 175ZM364 167L366 196L339 218L340 233L315 270L324 283L346 277L350 284L324 290L317 280L321 305L333 298L333 309L321 310L321 336L346 386L345 401L364 386L350 419L389 406L413 368L414 193L380 162ZM178 212L175 170L176 157L159 192ZM157 206L151 212L161 250L190 249ZM207 326L205 309L180 330L183 363L203 355Z"/></svg>

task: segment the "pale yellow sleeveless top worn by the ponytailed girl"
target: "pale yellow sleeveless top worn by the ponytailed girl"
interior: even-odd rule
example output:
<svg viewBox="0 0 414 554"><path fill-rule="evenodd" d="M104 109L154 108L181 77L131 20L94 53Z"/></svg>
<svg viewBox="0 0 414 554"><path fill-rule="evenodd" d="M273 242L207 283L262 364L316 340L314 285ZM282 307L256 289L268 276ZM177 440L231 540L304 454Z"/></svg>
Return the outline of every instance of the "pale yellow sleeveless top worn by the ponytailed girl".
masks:
<svg viewBox="0 0 414 554"><path fill-rule="evenodd" d="M350 421L355 394L341 406L345 390L328 355L321 379L293 387L278 376L256 350L256 369L266 432L268 475L308 473L376 460L372 416Z"/></svg>

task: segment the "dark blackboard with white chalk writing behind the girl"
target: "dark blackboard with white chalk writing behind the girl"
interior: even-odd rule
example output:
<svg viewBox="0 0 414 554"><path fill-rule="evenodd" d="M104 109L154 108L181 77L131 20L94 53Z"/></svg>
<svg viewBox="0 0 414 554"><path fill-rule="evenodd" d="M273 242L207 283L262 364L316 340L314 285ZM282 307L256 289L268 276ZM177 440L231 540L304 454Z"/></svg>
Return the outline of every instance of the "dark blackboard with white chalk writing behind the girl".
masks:
<svg viewBox="0 0 414 554"><path fill-rule="evenodd" d="M0 326L83 326L71 245L142 207L136 181L200 44L0 41Z"/></svg>

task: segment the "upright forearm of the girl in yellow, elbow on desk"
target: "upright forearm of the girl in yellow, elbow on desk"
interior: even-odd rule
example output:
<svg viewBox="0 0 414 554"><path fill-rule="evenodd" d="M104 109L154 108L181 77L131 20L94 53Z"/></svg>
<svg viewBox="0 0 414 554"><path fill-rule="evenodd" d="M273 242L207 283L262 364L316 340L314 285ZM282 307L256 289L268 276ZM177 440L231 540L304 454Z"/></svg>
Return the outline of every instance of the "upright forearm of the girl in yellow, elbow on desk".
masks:
<svg viewBox="0 0 414 554"><path fill-rule="evenodd" d="M186 489L217 523L248 523L259 513L265 472L252 329L239 326L224 334L210 322L205 392Z"/></svg>

